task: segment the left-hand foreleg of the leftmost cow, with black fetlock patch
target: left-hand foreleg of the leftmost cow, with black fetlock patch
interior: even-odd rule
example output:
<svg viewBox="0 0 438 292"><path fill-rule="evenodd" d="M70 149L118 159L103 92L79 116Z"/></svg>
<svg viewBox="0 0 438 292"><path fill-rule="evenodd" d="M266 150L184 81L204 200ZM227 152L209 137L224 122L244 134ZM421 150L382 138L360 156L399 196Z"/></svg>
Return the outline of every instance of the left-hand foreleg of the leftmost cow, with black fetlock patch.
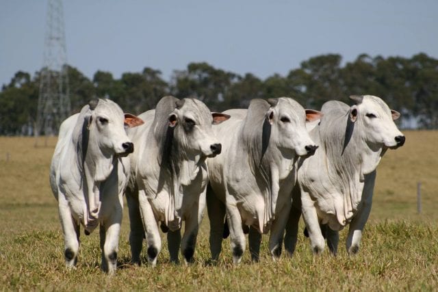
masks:
<svg viewBox="0 0 438 292"><path fill-rule="evenodd" d="M79 252L79 224L73 220L70 207L64 194L58 197L58 211L64 233L64 257L67 268L75 268L77 263L77 253Z"/></svg>

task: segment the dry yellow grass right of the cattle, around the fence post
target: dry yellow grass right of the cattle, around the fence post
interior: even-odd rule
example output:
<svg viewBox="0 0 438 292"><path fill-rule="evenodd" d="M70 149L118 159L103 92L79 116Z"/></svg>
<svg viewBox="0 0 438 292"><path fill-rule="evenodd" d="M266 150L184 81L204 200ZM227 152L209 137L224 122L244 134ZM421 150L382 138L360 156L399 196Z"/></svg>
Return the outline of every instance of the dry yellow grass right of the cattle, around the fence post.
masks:
<svg viewBox="0 0 438 292"><path fill-rule="evenodd" d="M388 150L377 168L371 218L438 219L438 131L404 131L406 143ZM417 183L422 213L417 214Z"/></svg>

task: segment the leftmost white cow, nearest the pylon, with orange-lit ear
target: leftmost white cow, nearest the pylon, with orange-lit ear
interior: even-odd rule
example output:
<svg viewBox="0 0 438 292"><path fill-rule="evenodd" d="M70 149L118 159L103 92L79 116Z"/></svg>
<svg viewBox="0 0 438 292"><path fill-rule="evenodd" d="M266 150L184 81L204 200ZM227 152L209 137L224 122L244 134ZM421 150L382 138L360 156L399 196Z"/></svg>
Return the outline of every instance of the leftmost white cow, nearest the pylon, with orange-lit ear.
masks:
<svg viewBox="0 0 438 292"><path fill-rule="evenodd" d="M125 126L143 121L123 114L109 100L89 105L62 122L50 168L50 183L58 201L67 267L75 267L79 224L89 235L100 224L102 269L116 271L123 191L127 185L133 144Z"/></svg>

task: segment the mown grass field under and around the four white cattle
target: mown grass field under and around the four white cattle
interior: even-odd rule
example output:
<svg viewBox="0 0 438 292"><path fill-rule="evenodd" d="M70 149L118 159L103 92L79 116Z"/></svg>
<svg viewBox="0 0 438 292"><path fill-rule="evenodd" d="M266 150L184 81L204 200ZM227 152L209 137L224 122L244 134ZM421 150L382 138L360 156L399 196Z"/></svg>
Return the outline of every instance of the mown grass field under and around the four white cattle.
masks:
<svg viewBox="0 0 438 292"><path fill-rule="evenodd" d="M300 235L294 256L283 254L274 263L263 237L259 263L250 263L246 251L243 263L234 266L229 243L224 241L219 263L211 265L204 220L196 263L170 263L164 237L157 267L133 267L125 212L114 277L100 270L96 232L81 235L77 269L64 267L64 242L48 178L56 139L49 138L48 146L42 146L42 138L35 148L34 138L0 137L0 290L437 290L438 132L404 133L406 144L389 150L378 167L372 213L357 256L346 254L344 230L336 258L327 250L313 256L307 239ZM420 215L416 207L419 181Z"/></svg>

